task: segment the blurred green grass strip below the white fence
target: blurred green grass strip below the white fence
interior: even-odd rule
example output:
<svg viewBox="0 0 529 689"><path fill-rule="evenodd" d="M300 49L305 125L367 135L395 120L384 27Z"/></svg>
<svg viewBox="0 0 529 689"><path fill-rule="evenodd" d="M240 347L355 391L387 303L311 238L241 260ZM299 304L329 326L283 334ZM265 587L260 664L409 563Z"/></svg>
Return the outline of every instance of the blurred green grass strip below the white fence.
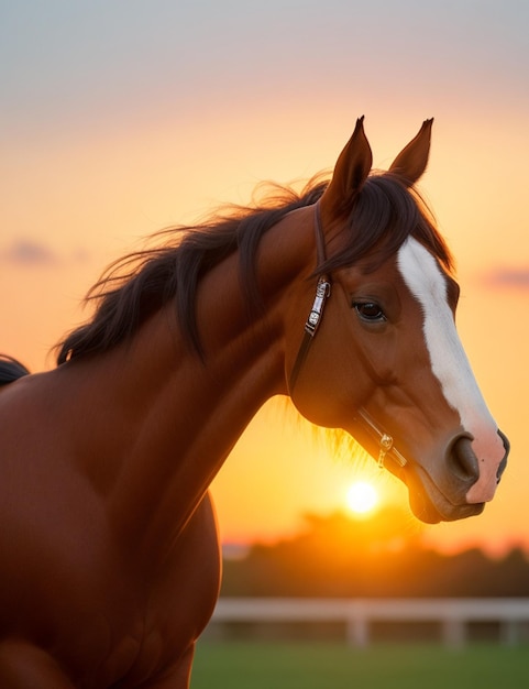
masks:
<svg viewBox="0 0 529 689"><path fill-rule="evenodd" d="M191 689L525 689L529 646L201 642Z"/></svg>

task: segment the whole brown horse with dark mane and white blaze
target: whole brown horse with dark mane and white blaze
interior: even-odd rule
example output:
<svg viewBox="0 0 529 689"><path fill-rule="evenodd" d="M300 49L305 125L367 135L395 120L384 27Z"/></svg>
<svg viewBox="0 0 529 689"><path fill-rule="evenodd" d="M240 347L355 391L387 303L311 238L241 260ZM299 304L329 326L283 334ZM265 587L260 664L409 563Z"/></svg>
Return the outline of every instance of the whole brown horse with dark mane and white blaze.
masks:
<svg viewBox="0 0 529 689"><path fill-rule="evenodd" d="M373 171L360 118L330 181L112 264L56 368L26 375L3 358L3 688L189 686L221 573L208 486L272 396L350 434L425 522L492 500L509 446L416 188L431 127Z"/></svg>

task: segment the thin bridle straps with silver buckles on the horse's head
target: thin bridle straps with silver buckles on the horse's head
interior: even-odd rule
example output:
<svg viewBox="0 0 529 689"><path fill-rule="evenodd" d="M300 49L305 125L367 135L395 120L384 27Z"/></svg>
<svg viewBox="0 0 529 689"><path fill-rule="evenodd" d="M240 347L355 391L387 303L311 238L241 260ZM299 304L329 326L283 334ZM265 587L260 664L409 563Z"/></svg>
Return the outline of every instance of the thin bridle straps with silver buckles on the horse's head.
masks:
<svg viewBox="0 0 529 689"><path fill-rule="evenodd" d="M327 260L327 251L323 230L321 227L321 210L319 201L315 204L315 231L317 265L322 265ZM310 346L312 344L313 338L321 324L327 299L331 296L331 276L328 273L322 273L319 276L318 283L316 285L315 302L305 322L304 338L301 340L301 344L299 346L298 356L296 357L296 361L294 362L294 367L290 372L290 395L294 392L294 387L309 352ZM365 433L366 437L377 448L377 461L381 469L384 468L387 457L393 459L400 468L405 467L408 461L395 447L393 437L382 430L363 407L360 407L356 414L357 416L353 420L362 426L362 430Z"/></svg>

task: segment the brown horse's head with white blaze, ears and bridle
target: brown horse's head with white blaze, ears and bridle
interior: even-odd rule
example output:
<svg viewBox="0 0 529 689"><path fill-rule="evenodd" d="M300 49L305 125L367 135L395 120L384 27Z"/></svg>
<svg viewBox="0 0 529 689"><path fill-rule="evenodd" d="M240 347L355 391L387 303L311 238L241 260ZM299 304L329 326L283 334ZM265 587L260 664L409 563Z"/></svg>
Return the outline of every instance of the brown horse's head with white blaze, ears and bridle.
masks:
<svg viewBox="0 0 529 689"><path fill-rule="evenodd" d="M318 294L311 283L305 339L289 362L301 414L352 435L434 523L483 511L509 445L455 329L450 252L415 189L431 125L376 173L357 121L316 206Z"/></svg>

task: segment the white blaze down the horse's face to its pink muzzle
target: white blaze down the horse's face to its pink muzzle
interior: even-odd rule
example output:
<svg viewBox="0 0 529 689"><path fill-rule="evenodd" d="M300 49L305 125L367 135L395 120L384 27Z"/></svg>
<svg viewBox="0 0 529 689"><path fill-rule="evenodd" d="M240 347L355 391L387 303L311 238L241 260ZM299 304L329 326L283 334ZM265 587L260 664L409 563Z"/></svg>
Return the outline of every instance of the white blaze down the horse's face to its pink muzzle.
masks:
<svg viewBox="0 0 529 689"><path fill-rule="evenodd" d="M401 245L397 264L422 308L432 372L441 383L448 404L459 413L461 425L474 438L472 448L478 460L480 478L466 500L486 502L496 490L496 474L505 449L455 329L447 298L447 281L436 259L414 238Z"/></svg>

